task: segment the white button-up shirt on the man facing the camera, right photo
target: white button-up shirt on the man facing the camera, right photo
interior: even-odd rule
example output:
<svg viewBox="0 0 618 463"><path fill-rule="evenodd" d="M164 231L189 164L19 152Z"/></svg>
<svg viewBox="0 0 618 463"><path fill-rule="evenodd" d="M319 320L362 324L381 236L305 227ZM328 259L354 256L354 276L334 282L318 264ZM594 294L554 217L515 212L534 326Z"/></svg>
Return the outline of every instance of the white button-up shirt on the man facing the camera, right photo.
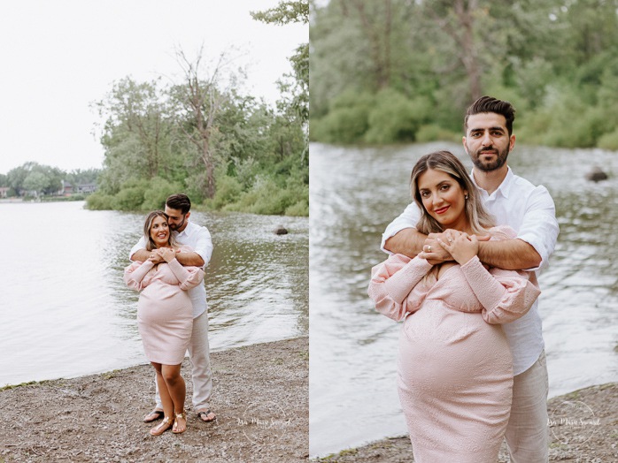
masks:
<svg viewBox="0 0 618 463"><path fill-rule="evenodd" d="M473 183L475 178L470 174ZM476 185L476 183L475 183ZM558 221L552 196L545 186L534 186L525 178L514 175L508 168L506 178L498 189L488 194L479 188L485 207L496 217L496 224L509 225L517 232L517 239L529 243L541 256L544 267L553 253L558 239ZM415 228L421 218L421 209L412 202L404 212L393 220L382 234L382 250L390 237L406 228ZM526 315L513 323L503 325L513 355L514 375L519 375L530 368L545 347L543 327L538 315L538 300Z"/></svg>

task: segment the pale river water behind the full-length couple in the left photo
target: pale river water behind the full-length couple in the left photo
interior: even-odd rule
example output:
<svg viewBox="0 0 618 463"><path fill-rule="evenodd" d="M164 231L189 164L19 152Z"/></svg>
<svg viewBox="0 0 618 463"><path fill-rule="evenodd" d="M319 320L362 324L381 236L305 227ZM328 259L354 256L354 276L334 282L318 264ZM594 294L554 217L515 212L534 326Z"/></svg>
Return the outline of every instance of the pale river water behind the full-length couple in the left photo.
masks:
<svg viewBox="0 0 618 463"><path fill-rule="evenodd" d="M145 214L0 203L0 387L146 363L122 280ZM193 212L211 231L214 351L308 333L306 217ZM275 235L277 224L290 233Z"/></svg>

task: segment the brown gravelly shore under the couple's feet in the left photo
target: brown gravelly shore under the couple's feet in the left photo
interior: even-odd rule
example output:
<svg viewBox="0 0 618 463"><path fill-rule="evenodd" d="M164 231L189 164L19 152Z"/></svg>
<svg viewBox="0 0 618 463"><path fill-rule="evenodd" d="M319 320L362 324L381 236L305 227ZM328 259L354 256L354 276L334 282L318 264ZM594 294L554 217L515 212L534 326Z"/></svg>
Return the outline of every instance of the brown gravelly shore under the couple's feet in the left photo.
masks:
<svg viewBox="0 0 618 463"><path fill-rule="evenodd" d="M0 463L50 461L295 462L309 454L309 340L212 353L212 411L188 429L150 436L150 365L0 391Z"/></svg>

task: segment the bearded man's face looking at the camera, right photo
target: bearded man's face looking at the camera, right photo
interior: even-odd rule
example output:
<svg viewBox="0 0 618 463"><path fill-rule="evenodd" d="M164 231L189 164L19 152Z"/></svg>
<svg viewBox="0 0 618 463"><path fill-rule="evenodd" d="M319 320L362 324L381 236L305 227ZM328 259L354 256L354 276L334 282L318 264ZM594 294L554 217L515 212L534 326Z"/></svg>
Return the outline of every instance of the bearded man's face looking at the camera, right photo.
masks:
<svg viewBox="0 0 618 463"><path fill-rule="evenodd" d="M478 170L496 171L506 164L515 145L515 136L508 136L504 116L482 112L467 118L463 145Z"/></svg>

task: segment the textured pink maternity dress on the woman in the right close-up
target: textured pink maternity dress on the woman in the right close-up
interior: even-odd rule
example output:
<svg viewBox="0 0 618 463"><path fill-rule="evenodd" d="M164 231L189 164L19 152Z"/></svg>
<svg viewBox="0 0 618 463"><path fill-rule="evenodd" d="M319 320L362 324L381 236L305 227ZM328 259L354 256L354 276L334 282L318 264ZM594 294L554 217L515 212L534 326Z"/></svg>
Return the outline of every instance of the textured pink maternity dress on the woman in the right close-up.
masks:
<svg viewBox="0 0 618 463"><path fill-rule="evenodd" d="M492 239L513 237L508 227ZM487 270L474 257L439 279L424 259L394 254L372 269L376 309L406 319L398 392L417 463L495 463L506 430L513 363L500 323L525 315L534 273Z"/></svg>

